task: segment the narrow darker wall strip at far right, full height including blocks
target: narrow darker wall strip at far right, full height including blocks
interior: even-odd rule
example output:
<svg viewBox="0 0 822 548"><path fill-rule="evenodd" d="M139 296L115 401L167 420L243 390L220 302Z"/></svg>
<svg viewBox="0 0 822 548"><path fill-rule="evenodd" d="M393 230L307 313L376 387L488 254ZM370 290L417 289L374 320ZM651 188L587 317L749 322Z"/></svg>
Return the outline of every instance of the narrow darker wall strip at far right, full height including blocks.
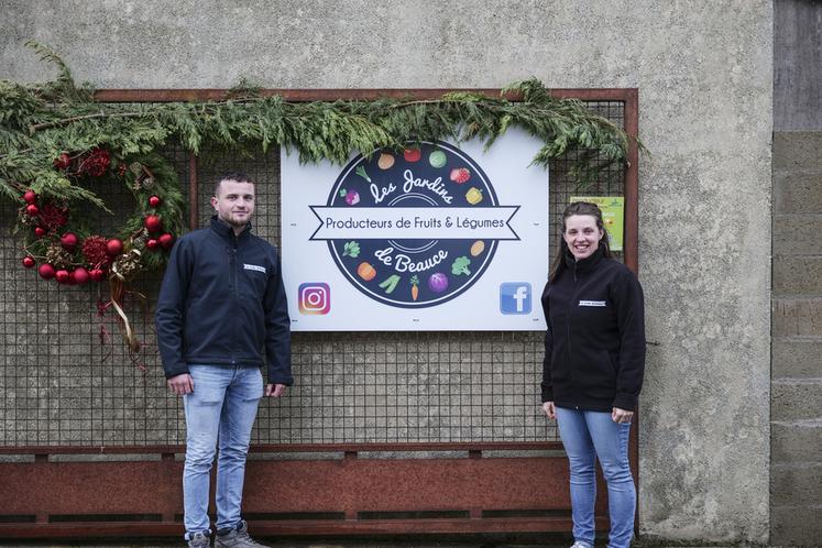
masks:
<svg viewBox="0 0 822 548"><path fill-rule="evenodd" d="M822 539L822 4L774 12L770 540Z"/></svg>

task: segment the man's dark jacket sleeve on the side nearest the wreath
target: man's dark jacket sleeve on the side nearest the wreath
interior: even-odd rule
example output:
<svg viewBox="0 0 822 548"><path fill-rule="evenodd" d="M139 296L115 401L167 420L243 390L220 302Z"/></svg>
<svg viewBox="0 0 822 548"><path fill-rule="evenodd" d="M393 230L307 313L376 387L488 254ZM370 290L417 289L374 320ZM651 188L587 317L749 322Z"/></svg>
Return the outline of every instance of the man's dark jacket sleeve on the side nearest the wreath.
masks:
<svg viewBox="0 0 822 548"><path fill-rule="evenodd" d="M157 347L166 379L188 373L183 357L183 328L193 257L187 243L187 240L177 240L172 249L154 313Z"/></svg>

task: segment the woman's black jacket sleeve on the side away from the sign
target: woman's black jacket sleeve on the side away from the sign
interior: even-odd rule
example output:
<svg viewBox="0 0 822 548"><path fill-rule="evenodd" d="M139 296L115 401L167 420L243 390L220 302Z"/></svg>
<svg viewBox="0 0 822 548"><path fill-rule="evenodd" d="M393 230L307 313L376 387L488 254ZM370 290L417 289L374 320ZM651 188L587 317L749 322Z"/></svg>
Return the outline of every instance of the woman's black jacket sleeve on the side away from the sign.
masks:
<svg viewBox="0 0 822 548"><path fill-rule="evenodd" d="M614 407L635 410L645 375L645 298L639 281L626 271L613 292L620 332L620 370Z"/></svg>

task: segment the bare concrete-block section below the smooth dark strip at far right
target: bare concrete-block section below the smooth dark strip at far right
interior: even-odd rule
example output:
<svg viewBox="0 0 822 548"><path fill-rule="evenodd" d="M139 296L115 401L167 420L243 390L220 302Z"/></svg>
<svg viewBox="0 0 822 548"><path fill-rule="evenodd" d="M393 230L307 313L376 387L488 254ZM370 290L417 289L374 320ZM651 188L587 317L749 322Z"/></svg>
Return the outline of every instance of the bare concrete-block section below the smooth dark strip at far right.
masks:
<svg viewBox="0 0 822 548"><path fill-rule="evenodd" d="M771 542L822 538L822 131L774 133Z"/></svg>

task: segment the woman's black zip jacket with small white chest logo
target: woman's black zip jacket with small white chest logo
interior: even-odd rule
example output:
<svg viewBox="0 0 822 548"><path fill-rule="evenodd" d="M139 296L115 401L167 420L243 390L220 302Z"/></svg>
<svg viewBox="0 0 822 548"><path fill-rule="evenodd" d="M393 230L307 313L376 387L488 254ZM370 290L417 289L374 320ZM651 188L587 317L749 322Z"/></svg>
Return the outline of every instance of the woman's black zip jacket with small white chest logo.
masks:
<svg viewBox="0 0 822 548"><path fill-rule="evenodd" d="M645 371L643 288L602 248L579 262L567 252L566 266L542 292L542 402L635 410Z"/></svg>

